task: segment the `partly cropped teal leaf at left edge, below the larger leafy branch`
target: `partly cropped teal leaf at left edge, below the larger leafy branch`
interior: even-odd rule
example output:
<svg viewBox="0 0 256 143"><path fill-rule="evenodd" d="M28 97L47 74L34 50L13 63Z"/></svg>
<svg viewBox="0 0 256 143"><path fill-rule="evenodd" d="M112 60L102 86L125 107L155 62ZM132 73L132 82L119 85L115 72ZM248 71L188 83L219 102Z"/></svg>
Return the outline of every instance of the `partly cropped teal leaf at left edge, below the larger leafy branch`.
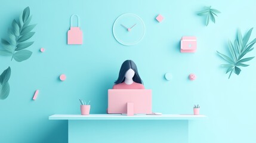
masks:
<svg viewBox="0 0 256 143"><path fill-rule="evenodd" d="M8 67L0 76L0 100L5 100L10 94L10 85L8 80L11 76L11 68Z"/></svg>

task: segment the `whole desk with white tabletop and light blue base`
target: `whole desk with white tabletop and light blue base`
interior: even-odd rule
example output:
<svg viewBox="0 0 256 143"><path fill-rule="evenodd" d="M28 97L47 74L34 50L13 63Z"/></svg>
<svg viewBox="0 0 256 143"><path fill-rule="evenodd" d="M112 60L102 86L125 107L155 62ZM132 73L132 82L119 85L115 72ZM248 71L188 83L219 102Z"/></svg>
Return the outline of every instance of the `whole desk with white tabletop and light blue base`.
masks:
<svg viewBox="0 0 256 143"><path fill-rule="evenodd" d="M49 120L68 120L69 143L102 142L189 142L189 120L204 115L163 114L54 114ZM132 131L131 131L132 130ZM141 135L143 132L143 136ZM144 136L148 135L148 136Z"/></svg>

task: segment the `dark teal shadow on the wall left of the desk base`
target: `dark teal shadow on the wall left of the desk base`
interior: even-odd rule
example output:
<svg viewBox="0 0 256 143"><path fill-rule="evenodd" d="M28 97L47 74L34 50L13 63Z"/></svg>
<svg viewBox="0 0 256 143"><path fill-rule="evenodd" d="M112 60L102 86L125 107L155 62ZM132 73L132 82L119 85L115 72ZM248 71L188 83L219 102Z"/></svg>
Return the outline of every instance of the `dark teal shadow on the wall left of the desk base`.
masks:
<svg viewBox="0 0 256 143"><path fill-rule="evenodd" d="M38 143L67 143L68 142L68 123L67 120L50 120L53 122L47 133L43 134Z"/></svg>

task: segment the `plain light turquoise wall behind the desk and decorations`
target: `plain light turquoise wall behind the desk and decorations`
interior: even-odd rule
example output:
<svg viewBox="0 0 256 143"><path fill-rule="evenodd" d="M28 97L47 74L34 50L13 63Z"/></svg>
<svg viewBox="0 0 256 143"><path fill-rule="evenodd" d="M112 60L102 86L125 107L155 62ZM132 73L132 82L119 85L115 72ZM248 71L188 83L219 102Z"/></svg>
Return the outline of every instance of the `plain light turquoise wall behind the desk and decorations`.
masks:
<svg viewBox="0 0 256 143"><path fill-rule="evenodd" d="M10 95L0 101L0 142L67 142L67 122L48 116L79 113L79 98L91 100L91 113L106 113L107 89L127 59L135 61L144 86L153 90L154 111L192 114L193 104L201 105L201 113L209 118L190 122L190 142L256 142L255 59L239 76L227 79L220 67L225 61L216 54L216 50L227 53L227 40L235 39L238 28L245 33L255 27L255 4L253 0L1 1L1 38L27 6L32 23L38 25L35 43L28 48L33 51L29 60L17 63L0 57L0 72L12 69ZM196 11L209 5L222 13L216 24L206 27ZM122 46L113 38L112 25L124 13L139 15L146 25L143 41L135 46ZM81 17L83 45L66 44L72 14ZM165 17L162 23L155 20L158 14ZM186 35L198 38L195 54L179 51L180 38ZM44 53L39 52L41 47ZM173 76L169 82L166 72ZM58 80L61 73L67 76L64 82ZM191 82L190 73L198 79ZM36 89L39 95L32 101Z"/></svg>

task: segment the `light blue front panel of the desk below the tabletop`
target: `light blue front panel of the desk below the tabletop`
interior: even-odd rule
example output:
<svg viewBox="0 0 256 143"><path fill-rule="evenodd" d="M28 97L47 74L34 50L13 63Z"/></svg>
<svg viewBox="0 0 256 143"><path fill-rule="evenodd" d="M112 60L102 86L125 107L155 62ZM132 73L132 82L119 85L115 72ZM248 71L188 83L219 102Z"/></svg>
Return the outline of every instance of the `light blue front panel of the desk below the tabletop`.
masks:
<svg viewBox="0 0 256 143"><path fill-rule="evenodd" d="M69 120L69 143L188 143L187 120Z"/></svg>

